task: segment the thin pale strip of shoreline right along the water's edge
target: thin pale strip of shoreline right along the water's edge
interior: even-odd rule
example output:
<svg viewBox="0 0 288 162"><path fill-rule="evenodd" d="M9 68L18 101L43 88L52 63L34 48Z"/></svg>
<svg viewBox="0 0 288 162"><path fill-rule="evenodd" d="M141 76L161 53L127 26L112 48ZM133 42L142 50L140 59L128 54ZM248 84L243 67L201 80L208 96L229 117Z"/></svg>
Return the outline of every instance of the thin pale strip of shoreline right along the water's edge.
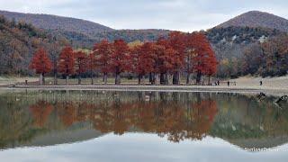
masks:
<svg viewBox="0 0 288 162"><path fill-rule="evenodd" d="M2 86L0 89L31 90L95 90L95 91L146 91L146 92L211 92L238 94L287 95L288 88L271 86L224 86L224 85L15 85Z"/></svg>

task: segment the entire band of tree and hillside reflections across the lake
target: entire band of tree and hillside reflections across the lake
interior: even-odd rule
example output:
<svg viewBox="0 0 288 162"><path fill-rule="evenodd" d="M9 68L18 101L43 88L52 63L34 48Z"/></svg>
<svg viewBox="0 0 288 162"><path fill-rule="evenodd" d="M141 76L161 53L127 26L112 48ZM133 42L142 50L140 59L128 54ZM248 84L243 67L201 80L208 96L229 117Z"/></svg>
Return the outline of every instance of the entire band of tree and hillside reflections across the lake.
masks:
<svg viewBox="0 0 288 162"><path fill-rule="evenodd" d="M50 131L156 133L171 141L263 139L288 134L288 110L267 98L209 93L35 91L0 94L0 148ZM287 107L287 104L281 105Z"/></svg>

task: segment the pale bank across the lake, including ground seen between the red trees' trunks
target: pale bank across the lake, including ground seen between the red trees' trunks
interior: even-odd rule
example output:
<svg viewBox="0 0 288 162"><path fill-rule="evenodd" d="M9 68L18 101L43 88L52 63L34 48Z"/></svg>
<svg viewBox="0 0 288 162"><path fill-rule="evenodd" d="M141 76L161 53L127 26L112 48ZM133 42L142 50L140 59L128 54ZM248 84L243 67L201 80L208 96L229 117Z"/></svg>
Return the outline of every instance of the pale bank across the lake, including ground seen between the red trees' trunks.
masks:
<svg viewBox="0 0 288 162"><path fill-rule="evenodd" d="M29 85L23 85L25 80L29 81ZM238 79L231 79L230 82L236 82L236 85L227 85L227 81L220 82L220 85L148 85L148 79L146 79L147 85L137 85L137 79L121 79L121 85L113 85L114 79L110 77L108 79L108 85L103 85L101 78L94 79L95 85L91 84L90 78L83 78L82 85L77 85L77 79L71 78L68 80L69 85L65 85L65 79L58 79L58 85L53 85L53 78L46 78L46 85L38 85L38 77L1 77L0 83L2 85L9 85L11 83L16 84L14 88L31 88L31 89L75 89L75 90L128 90L128 91L205 91L205 92L248 92L248 93L260 93L266 92L269 94L288 94L288 76L282 77L240 77ZM262 81L263 85L259 82ZM182 81L184 83L184 81ZM6 86L9 87L9 86Z"/></svg>

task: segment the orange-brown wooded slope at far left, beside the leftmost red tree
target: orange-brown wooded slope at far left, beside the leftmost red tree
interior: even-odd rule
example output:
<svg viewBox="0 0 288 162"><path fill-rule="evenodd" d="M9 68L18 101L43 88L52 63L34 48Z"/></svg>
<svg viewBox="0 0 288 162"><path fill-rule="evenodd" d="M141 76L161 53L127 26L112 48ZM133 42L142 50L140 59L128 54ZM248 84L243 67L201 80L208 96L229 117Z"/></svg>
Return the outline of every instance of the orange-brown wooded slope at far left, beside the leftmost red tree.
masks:
<svg viewBox="0 0 288 162"><path fill-rule="evenodd" d="M0 74L27 74L35 49L46 47L53 54L68 43L31 24L9 22L3 16L0 16L0 38Z"/></svg>

